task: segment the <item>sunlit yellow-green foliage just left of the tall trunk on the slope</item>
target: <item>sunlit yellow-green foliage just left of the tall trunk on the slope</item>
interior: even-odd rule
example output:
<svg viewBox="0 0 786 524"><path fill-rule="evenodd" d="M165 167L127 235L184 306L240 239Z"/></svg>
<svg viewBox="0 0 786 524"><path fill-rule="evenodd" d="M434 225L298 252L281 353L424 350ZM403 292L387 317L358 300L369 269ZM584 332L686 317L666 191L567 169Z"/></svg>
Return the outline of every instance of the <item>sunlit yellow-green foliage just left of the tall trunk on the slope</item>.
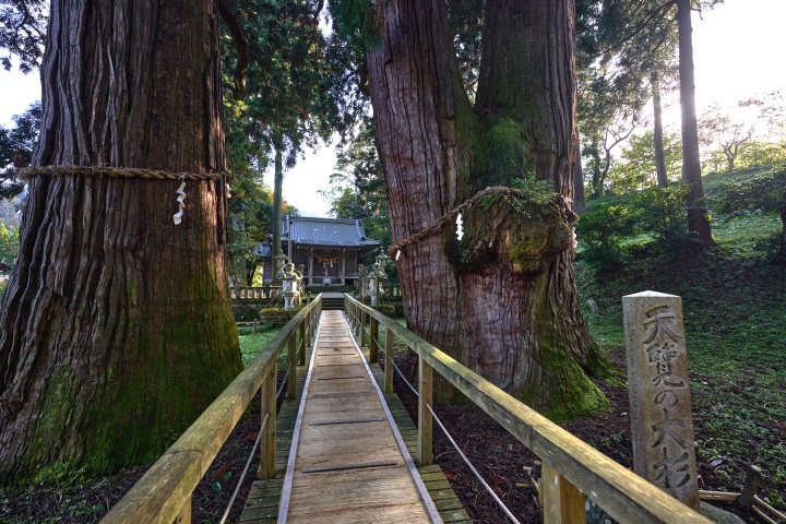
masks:
<svg viewBox="0 0 786 524"><path fill-rule="evenodd" d="M682 172L682 144L677 133L664 134L666 174L669 180L679 180ZM623 194L657 186L655 141L653 132L634 134L622 148L621 159L607 176L608 191Z"/></svg>

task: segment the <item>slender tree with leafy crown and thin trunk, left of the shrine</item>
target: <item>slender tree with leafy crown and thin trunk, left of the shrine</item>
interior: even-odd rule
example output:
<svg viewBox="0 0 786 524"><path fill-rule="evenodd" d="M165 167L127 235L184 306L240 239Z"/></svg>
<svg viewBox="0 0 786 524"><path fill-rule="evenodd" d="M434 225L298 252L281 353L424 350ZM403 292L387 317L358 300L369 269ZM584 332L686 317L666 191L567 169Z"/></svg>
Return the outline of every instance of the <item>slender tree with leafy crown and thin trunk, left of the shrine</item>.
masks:
<svg viewBox="0 0 786 524"><path fill-rule="evenodd" d="M285 168L303 148L332 131L334 104L326 88L331 72L319 28L323 0L221 0L236 46L225 46L235 63L233 94L245 98L249 140L263 145L273 165L273 250L281 250Z"/></svg>

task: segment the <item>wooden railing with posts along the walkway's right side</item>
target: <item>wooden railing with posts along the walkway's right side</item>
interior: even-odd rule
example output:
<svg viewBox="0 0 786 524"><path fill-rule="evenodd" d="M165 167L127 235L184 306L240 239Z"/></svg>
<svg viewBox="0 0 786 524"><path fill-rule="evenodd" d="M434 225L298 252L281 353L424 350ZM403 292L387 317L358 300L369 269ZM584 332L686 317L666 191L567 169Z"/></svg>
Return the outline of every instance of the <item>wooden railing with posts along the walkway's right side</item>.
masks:
<svg viewBox="0 0 786 524"><path fill-rule="evenodd" d="M393 336L418 355L418 432L420 461L431 457L432 371L444 377L500 426L529 448L543 461L544 522L583 523L585 497L622 523L706 523L704 516L647 483L634 473L569 433L558 425L512 397L445 353L418 337L379 311L344 296L344 310L357 331L366 332L366 319L384 325L385 391L392 390L390 366ZM361 335L365 342L366 336Z"/></svg>

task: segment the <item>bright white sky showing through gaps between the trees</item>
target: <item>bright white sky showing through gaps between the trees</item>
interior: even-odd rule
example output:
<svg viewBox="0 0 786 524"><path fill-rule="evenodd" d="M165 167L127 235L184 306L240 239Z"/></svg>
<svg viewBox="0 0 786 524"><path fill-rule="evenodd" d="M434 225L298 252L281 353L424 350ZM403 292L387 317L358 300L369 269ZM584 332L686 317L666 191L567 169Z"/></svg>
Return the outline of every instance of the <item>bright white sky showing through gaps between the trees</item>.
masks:
<svg viewBox="0 0 786 524"><path fill-rule="evenodd" d="M755 94L786 91L786 0L725 0L712 11L693 13L696 107L731 105ZM40 97L38 74L0 70L0 124ZM679 105L665 110L667 128L679 129ZM335 165L332 145L308 152L284 178L284 200L306 216L327 216L330 204L319 194L329 189ZM272 186L273 174L265 174Z"/></svg>

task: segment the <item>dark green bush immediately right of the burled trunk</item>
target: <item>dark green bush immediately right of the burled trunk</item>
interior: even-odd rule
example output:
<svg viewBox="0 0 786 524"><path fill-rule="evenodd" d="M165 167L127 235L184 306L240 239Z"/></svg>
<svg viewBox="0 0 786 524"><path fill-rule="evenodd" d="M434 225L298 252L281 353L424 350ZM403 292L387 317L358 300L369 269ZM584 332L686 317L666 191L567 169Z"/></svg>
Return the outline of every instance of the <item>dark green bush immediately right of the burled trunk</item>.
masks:
<svg viewBox="0 0 786 524"><path fill-rule="evenodd" d="M626 257L623 241L633 235L638 216L621 205L602 204L582 215L576 224L576 238L584 243L582 260L599 270L612 270Z"/></svg>

